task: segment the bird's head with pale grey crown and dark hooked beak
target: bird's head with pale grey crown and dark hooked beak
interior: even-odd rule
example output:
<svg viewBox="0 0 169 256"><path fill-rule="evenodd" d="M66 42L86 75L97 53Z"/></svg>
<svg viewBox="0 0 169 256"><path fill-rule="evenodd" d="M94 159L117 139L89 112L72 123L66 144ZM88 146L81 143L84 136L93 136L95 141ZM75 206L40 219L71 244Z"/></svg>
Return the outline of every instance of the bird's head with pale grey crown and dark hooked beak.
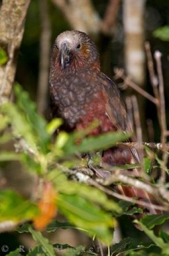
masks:
<svg viewBox="0 0 169 256"><path fill-rule="evenodd" d="M55 72L76 71L80 68L100 69L99 54L92 39L80 31L64 31L55 39L51 68Z"/></svg>

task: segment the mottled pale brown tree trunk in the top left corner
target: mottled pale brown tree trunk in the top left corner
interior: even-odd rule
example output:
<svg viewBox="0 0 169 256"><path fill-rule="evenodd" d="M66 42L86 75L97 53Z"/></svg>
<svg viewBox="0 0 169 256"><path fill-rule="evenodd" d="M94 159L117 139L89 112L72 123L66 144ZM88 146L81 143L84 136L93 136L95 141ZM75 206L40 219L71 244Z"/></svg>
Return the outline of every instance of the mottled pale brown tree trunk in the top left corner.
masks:
<svg viewBox="0 0 169 256"><path fill-rule="evenodd" d="M24 20L31 0L3 0L0 9L0 48L8 55L8 61L0 66L0 101L11 95L16 71L17 50L20 47Z"/></svg>

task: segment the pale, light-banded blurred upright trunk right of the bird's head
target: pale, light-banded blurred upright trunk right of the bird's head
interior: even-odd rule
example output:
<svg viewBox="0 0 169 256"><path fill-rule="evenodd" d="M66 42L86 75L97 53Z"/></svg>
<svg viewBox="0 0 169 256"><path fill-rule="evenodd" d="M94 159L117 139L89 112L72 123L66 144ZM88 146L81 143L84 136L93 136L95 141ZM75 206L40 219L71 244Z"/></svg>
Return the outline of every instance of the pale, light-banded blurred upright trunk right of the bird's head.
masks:
<svg viewBox="0 0 169 256"><path fill-rule="evenodd" d="M124 0L125 66L139 86L145 83L144 13L145 0Z"/></svg>

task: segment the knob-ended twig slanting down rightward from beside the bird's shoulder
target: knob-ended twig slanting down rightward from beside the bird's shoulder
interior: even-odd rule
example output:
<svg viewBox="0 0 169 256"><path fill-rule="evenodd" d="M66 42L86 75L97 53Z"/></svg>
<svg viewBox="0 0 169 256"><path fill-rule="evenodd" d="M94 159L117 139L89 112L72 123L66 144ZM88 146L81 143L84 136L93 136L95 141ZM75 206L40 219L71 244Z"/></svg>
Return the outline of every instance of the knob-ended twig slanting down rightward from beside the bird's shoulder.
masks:
<svg viewBox="0 0 169 256"><path fill-rule="evenodd" d="M145 98L153 102L155 105L158 104L158 100L155 97L153 97L151 94L149 94L148 92L146 92L145 90L137 86L137 84L132 82L129 77L125 76L123 69L116 68L114 69L114 72L115 72L115 79L119 79L119 78L123 79L126 86L131 87L136 92L138 92L139 94L141 94L142 96L144 96Z"/></svg>

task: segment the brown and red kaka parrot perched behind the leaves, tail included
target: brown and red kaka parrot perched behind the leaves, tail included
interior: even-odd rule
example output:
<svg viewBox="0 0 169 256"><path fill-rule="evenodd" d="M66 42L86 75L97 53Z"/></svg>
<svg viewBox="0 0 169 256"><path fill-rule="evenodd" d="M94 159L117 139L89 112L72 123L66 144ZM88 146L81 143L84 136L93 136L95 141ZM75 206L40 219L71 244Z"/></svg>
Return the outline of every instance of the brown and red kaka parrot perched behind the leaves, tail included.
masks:
<svg viewBox="0 0 169 256"><path fill-rule="evenodd" d="M80 31L64 31L54 42L50 59L50 96L52 116L60 116L73 131L88 127L94 120L99 126L92 135L110 131L131 132L130 122L115 83L100 70L99 54L92 39ZM134 148L118 146L103 152L111 165L139 161ZM138 170L134 169L138 173ZM122 194L137 197L151 205L144 190L119 185ZM153 207L147 209L156 214Z"/></svg>

